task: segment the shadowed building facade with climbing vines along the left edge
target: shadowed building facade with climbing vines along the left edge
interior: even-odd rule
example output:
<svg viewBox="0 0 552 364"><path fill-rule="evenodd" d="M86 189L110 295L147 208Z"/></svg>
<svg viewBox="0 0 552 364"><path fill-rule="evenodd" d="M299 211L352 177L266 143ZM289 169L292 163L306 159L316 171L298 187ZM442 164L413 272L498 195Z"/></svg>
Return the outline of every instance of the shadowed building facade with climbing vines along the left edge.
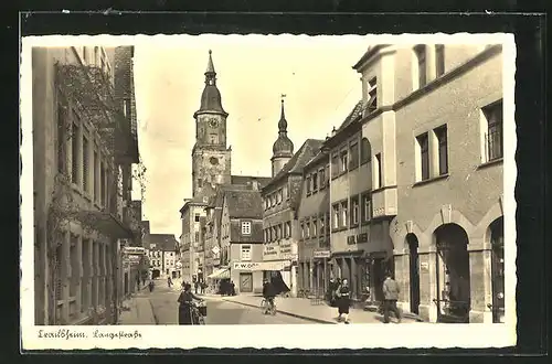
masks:
<svg viewBox="0 0 552 364"><path fill-rule="evenodd" d="M138 143L124 113L134 88L114 68L128 69L131 56L132 47L32 50L36 324L117 321Z"/></svg>

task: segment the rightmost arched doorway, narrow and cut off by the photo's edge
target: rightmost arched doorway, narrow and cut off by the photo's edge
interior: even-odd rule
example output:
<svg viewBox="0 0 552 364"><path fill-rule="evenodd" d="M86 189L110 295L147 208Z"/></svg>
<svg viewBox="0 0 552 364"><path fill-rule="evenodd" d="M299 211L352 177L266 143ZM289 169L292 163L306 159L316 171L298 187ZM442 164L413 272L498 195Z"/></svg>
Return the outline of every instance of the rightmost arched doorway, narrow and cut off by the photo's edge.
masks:
<svg viewBox="0 0 552 364"><path fill-rule="evenodd" d="M491 244L492 322L505 322L505 220L489 225Z"/></svg>

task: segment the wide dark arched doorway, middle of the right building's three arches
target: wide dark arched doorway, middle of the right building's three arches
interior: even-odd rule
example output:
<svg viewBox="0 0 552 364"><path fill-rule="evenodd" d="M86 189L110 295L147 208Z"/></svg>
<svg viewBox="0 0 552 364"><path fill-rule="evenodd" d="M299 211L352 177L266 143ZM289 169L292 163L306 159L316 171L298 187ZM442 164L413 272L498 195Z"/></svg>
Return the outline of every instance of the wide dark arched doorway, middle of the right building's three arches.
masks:
<svg viewBox="0 0 552 364"><path fill-rule="evenodd" d="M435 231L437 247L437 320L469 322L470 274L468 236L461 226L445 224Z"/></svg>

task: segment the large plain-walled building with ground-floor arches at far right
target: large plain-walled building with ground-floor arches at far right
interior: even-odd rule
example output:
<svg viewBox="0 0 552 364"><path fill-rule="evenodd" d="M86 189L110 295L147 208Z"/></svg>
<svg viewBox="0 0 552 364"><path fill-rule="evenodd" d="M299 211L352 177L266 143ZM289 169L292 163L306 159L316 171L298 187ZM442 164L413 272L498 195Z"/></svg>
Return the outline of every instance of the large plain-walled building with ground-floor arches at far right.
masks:
<svg viewBox="0 0 552 364"><path fill-rule="evenodd" d="M501 322L501 47L422 44L375 56L396 138L385 141L383 129L383 153L388 142L394 154L383 174L396 176L385 180L399 202L391 236L400 302L432 322ZM374 211L388 208L386 196L373 199Z"/></svg>

